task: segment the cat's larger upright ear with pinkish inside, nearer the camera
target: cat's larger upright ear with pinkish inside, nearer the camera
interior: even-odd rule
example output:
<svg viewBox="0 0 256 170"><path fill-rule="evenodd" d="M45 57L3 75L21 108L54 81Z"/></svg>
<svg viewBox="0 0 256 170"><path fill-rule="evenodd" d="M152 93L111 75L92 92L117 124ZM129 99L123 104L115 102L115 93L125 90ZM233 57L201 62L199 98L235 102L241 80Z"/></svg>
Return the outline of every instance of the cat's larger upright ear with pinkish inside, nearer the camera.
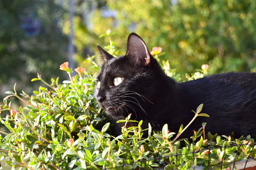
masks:
<svg viewBox="0 0 256 170"><path fill-rule="evenodd" d="M150 52L146 43L134 32L132 32L127 41L127 56L131 56L132 59L136 59L136 62L147 66L150 64Z"/></svg>

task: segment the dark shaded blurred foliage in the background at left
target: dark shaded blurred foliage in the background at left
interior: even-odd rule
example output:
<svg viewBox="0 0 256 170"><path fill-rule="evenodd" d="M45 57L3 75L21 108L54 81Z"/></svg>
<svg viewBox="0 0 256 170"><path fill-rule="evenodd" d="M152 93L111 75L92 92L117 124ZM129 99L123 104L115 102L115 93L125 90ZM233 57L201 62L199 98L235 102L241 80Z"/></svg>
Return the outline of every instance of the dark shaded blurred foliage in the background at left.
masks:
<svg viewBox="0 0 256 170"><path fill-rule="evenodd" d="M61 31L63 13L53 0L0 1L1 89L19 81L20 89L30 91L28 87L37 83L29 80L37 72L44 73L46 80L61 75L55 68L65 58L67 49L67 37Z"/></svg>

